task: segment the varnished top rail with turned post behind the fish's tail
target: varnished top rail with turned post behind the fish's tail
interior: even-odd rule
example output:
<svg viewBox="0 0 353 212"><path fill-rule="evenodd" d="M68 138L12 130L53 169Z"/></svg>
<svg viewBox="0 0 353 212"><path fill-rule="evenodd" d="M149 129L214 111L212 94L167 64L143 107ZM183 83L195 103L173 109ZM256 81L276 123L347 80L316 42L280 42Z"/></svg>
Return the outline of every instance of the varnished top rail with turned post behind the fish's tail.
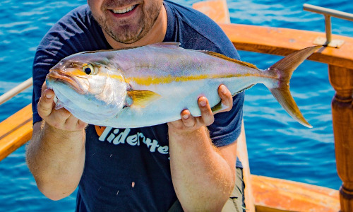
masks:
<svg viewBox="0 0 353 212"><path fill-rule="evenodd" d="M237 49L277 55L287 55L311 46L316 37L324 35L284 28L220 25ZM330 83L336 91L332 114L337 174L343 182L340 206L341 211L353 211L353 38L340 35L332 37L345 40L345 44L339 49L327 47L309 59L328 64Z"/></svg>

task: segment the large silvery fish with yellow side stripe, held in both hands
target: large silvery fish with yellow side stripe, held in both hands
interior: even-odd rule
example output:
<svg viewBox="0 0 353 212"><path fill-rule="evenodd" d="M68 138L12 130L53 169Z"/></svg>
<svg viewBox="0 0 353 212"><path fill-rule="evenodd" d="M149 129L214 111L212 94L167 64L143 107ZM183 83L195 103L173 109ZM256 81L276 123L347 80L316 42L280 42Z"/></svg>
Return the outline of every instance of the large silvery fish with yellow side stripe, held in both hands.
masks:
<svg viewBox="0 0 353 212"><path fill-rule="evenodd" d="M263 83L290 116L311 128L292 98L289 79L320 48L306 47L265 70L223 54L184 49L178 42L79 52L53 66L46 83L56 95L56 110L64 107L83 122L114 128L173 122L185 109L201 116L201 96L218 112L226 107L217 93L221 84L237 95Z"/></svg>

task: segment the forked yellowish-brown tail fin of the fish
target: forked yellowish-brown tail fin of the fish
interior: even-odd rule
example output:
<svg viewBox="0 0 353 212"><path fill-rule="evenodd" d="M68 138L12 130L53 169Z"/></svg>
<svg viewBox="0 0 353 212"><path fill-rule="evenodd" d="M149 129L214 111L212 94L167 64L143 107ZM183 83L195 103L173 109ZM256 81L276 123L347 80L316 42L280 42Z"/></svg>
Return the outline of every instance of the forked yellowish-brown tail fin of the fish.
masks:
<svg viewBox="0 0 353 212"><path fill-rule="evenodd" d="M288 112L288 114L296 119L300 124L307 126L309 128L313 127L309 122L304 119L303 114L301 114L297 103L292 98L289 91L289 80L292 77L292 73L297 67L313 52L320 49L322 46L307 47L301 49L298 52L293 52L287 57L277 61L273 66L268 68L268 73L270 75L279 76L279 83L273 87L273 85L268 86L273 96L280 102L280 105Z"/></svg>

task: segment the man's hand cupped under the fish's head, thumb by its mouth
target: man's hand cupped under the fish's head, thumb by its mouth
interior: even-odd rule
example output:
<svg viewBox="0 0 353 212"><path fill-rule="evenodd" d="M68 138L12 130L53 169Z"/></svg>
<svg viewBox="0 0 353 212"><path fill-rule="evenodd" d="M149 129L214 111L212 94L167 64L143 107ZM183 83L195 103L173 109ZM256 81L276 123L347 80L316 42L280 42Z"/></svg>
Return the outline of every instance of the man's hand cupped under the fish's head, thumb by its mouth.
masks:
<svg viewBox="0 0 353 212"><path fill-rule="evenodd" d="M74 117L73 114L68 112L64 107L59 110L54 109L54 95L54 91L47 89L47 84L44 83L42 86L42 96L38 102L37 110L45 123L54 126L56 129L66 131L85 129L88 124Z"/></svg>

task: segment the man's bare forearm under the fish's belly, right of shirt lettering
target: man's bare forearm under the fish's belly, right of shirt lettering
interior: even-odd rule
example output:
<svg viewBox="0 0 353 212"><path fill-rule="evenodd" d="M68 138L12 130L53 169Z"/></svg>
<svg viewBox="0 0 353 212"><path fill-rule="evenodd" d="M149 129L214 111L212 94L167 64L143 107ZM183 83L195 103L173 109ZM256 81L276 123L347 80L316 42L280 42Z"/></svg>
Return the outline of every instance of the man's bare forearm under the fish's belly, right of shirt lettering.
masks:
<svg viewBox="0 0 353 212"><path fill-rule="evenodd" d="M169 148L174 189L184 210L221 211L234 187L235 167L213 146L207 128L186 134L169 130Z"/></svg>

